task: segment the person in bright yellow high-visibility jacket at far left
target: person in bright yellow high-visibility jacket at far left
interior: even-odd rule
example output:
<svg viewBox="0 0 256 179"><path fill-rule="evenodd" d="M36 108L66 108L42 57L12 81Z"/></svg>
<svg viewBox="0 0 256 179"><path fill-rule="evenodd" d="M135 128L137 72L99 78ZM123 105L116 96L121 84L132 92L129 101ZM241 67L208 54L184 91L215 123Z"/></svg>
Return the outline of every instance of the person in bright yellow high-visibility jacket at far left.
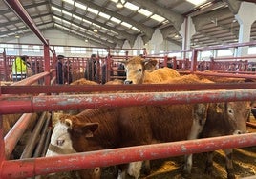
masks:
<svg viewBox="0 0 256 179"><path fill-rule="evenodd" d="M12 80L20 81L27 77L28 56L18 56L12 64Z"/></svg>

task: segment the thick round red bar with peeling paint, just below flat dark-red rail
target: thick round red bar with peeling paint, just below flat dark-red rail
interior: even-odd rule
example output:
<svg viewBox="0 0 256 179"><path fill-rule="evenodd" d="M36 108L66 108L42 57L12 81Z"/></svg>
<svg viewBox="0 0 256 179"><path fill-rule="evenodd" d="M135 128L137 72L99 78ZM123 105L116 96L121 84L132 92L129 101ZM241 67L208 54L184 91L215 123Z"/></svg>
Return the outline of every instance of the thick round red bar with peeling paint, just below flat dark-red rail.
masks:
<svg viewBox="0 0 256 179"><path fill-rule="evenodd" d="M100 93L0 98L0 113L256 100L256 89Z"/></svg>

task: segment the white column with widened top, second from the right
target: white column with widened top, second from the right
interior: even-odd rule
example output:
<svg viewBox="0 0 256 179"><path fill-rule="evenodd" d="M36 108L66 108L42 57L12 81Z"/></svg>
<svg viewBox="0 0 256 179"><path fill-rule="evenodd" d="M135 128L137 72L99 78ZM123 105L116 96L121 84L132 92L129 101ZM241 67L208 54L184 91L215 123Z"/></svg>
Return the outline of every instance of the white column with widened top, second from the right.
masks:
<svg viewBox="0 0 256 179"><path fill-rule="evenodd" d="M191 17L184 19L179 31L182 36L182 50L189 50L192 36L196 33L195 25L192 22ZM186 55L183 55L185 58Z"/></svg>

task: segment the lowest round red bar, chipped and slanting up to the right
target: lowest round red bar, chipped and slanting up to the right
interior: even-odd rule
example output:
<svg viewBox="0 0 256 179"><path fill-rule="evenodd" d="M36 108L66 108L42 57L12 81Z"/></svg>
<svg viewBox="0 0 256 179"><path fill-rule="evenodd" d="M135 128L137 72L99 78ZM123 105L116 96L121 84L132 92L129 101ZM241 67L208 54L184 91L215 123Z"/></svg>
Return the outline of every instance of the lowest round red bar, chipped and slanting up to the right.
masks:
<svg viewBox="0 0 256 179"><path fill-rule="evenodd" d="M4 161L0 169L2 170L0 178L26 178L53 172L107 167L134 161L255 145L256 133L249 133L130 148L105 149L55 157Z"/></svg>

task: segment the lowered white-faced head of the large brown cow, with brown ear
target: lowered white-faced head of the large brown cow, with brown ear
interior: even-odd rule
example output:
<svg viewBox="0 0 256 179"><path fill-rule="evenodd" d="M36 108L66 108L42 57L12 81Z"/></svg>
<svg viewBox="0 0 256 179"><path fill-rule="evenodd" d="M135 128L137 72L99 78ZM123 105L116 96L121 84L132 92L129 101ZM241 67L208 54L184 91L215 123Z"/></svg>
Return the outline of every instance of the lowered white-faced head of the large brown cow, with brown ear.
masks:
<svg viewBox="0 0 256 179"><path fill-rule="evenodd" d="M98 124L89 123L83 126L81 129L75 129L70 119L58 121L54 125L53 134L47 150L46 156L56 156L61 154L75 153L73 145L74 142L71 137L71 132L75 132L76 135L85 134L85 137L92 137L94 131L97 129ZM87 179L99 179L101 175L101 169L83 169L78 171L80 178Z"/></svg>

